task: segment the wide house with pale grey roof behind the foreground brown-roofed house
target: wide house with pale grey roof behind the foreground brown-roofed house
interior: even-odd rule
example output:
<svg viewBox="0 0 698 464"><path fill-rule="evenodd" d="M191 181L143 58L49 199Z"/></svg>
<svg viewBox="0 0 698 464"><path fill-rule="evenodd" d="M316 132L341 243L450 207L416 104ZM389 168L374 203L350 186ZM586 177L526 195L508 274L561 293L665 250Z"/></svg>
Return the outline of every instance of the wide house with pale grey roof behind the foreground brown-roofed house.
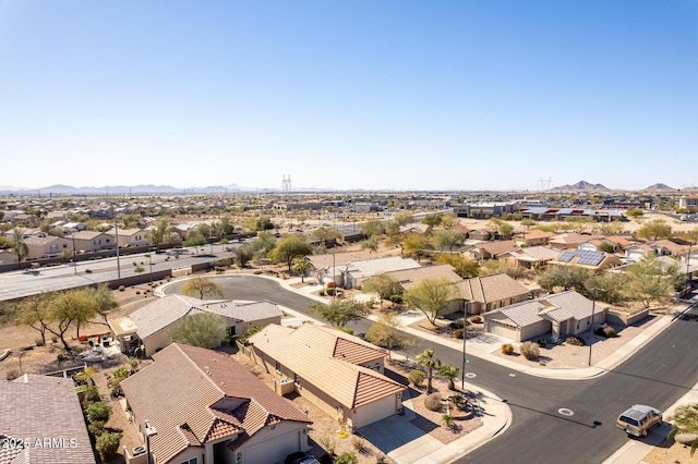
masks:
<svg viewBox="0 0 698 464"><path fill-rule="evenodd" d="M254 326L281 323L284 312L276 303L238 303L231 300L204 302L184 295L158 298L128 317L109 319L121 351L129 353L142 345L143 356L152 356L172 342L172 328L188 316L212 313L222 317L228 334L243 334Z"/></svg>

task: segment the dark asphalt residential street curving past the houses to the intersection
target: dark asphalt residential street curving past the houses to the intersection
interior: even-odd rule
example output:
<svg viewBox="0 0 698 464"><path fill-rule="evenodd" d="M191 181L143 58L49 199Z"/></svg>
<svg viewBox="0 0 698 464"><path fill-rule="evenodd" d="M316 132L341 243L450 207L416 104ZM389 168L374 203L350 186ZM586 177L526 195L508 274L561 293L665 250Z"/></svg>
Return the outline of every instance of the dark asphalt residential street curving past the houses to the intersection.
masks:
<svg viewBox="0 0 698 464"><path fill-rule="evenodd" d="M277 282L236 276L218 279L231 300L270 300L298 312L313 300ZM176 293L170 285L167 293ZM687 313L696 315L696 309ZM365 332L371 321L350 325ZM492 391L508 403L512 426L502 436L461 457L459 463L601 463L629 438L616 428L621 412L635 403L665 410L698 382L698 356L693 354L696 320L677 319L630 359L590 380L550 380L528 376L469 355L468 382ZM424 342L426 343L426 342ZM442 363L461 365L461 352L433 346ZM561 410L568 410L567 412ZM486 414L486 411L484 412Z"/></svg>

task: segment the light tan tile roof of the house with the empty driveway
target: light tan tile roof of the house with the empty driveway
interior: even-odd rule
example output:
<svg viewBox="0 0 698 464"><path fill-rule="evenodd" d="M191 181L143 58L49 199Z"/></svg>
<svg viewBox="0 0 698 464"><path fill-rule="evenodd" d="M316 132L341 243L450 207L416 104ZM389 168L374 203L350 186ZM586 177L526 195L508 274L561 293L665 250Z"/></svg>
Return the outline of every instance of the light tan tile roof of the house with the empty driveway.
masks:
<svg viewBox="0 0 698 464"><path fill-rule="evenodd" d="M345 332L314 325L289 329L268 325L250 338L266 353L347 407L369 404L399 393L405 386L353 363L378 359L385 350Z"/></svg>

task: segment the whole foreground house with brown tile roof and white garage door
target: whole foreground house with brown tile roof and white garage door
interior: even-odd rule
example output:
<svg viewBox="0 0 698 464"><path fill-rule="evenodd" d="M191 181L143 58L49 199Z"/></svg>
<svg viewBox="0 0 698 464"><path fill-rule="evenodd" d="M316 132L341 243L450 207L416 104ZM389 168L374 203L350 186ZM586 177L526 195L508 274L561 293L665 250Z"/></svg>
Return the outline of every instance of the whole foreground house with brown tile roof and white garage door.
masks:
<svg viewBox="0 0 698 464"><path fill-rule="evenodd" d="M153 358L121 388L154 462L278 463L310 449L305 414L226 353L174 343Z"/></svg>

